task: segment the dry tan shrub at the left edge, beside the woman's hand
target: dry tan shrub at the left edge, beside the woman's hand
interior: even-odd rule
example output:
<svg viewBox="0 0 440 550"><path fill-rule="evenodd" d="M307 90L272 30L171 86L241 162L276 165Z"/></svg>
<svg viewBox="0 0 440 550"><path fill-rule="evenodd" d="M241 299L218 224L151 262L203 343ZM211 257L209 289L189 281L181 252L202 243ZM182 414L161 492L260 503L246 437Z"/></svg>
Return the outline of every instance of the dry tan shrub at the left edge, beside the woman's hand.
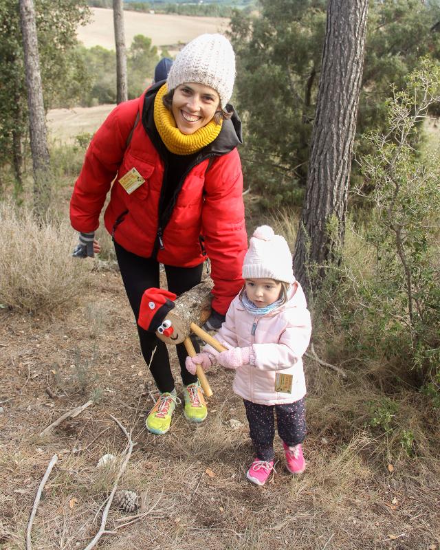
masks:
<svg viewBox="0 0 440 550"><path fill-rule="evenodd" d="M0 303L50 313L74 300L91 263L72 258L76 234L62 223L39 225L29 210L0 203Z"/></svg>

